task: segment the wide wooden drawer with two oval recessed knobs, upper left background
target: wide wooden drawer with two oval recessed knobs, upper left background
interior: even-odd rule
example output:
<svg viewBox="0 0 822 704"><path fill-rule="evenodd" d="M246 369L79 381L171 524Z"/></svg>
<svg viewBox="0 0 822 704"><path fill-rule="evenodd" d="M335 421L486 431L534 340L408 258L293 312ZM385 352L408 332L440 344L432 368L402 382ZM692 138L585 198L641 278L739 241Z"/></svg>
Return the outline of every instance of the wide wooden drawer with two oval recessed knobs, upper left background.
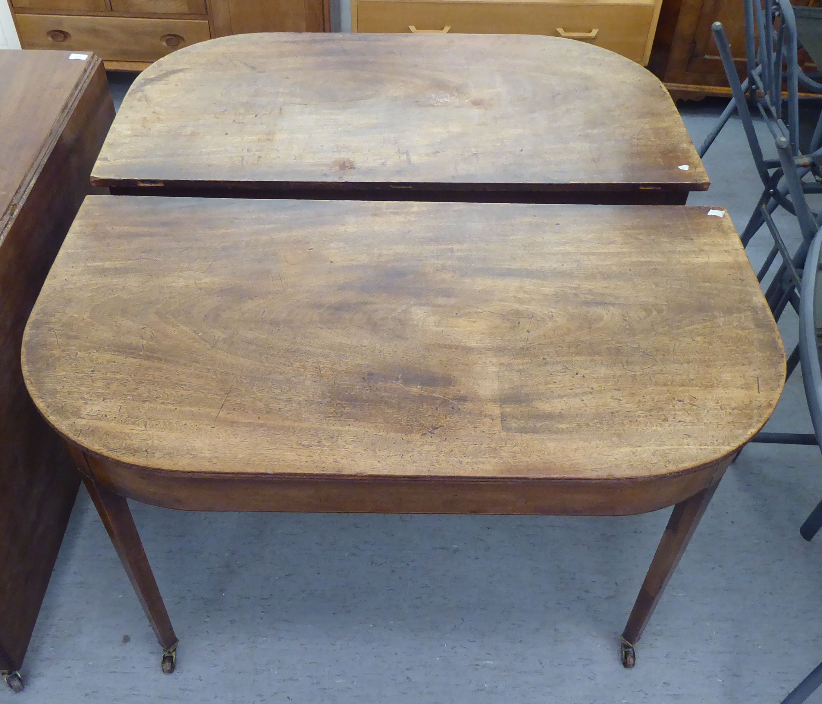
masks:
<svg viewBox="0 0 822 704"><path fill-rule="evenodd" d="M16 20L26 48L93 51L108 61L156 61L210 39L206 20L24 14Z"/></svg>

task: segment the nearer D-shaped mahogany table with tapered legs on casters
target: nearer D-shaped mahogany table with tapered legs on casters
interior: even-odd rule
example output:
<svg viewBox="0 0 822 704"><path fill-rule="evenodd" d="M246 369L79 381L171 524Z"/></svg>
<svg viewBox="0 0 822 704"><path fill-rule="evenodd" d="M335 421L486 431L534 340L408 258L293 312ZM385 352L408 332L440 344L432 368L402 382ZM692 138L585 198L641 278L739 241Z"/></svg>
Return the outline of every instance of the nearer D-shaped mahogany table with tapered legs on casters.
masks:
<svg viewBox="0 0 822 704"><path fill-rule="evenodd" d="M722 211L719 211L722 213ZM675 504L626 667L778 330L707 208L90 196L25 330L171 671L126 499L197 511L626 515Z"/></svg>

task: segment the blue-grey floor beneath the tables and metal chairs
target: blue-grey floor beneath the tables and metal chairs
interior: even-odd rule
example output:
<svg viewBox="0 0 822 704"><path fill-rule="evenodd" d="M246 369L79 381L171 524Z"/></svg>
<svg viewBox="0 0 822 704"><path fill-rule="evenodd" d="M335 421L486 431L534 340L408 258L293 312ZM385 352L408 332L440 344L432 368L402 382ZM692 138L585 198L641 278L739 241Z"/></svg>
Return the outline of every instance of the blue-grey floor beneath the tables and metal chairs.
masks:
<svg viewBox="0 0 822 704"><path fill-rule="evenodd" d="M689 104L699 143L721 105ZM738 121L697 205L742 228L760 193ZM786 228L796 228L789 218ZM796 236L796 235L794 235ZM761 259L761 242L751 246ZM786 347L796 318L782 323ZM797 371L769 427L810 431ZM815 447L750 445L637 649L618 634L667 521L182 513L132 504L180 637L155 642L81 490L25 661L0 702L780 702L822 660ZM822 702L816 692L809 702Z"/></svg>

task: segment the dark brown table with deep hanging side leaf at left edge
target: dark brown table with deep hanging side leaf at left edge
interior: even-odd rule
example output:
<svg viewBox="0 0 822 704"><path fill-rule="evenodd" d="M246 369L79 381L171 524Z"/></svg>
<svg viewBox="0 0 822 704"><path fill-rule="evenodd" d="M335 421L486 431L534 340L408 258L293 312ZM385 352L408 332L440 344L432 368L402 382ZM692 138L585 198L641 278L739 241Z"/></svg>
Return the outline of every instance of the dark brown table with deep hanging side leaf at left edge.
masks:
<svg viewBox="0 0 822 704"><path fill-rule="evenodd" d="M25 321L114 117L102 63L0 51L0 669L19 669L80 477L25 390Z"/></svg>

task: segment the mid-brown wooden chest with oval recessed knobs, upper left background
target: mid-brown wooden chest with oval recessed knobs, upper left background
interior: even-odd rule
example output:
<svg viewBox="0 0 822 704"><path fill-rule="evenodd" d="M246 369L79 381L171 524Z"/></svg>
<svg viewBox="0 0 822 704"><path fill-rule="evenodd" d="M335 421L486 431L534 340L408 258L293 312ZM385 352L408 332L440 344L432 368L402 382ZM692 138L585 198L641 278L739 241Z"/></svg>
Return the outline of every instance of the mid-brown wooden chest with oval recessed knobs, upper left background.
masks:
<svg viewBox="0 0 822 704"><path fill-rule="evenodd" d="M108 69L140 71L214 37L330 30L329 0L8 2L23 48L95 53Z"/></svg>

